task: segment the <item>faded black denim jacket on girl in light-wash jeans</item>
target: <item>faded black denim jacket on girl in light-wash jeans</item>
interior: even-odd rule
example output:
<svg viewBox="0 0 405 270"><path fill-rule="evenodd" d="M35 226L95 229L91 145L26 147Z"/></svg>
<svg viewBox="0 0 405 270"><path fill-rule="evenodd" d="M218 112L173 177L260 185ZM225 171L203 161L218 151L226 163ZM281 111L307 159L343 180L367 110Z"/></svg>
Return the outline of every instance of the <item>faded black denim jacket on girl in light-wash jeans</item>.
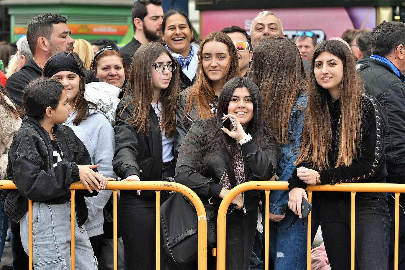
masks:
<svg viewBox="0 0 405 270"><path fill-rule="evenodd" d="M51 138L40 123L25 117L14 135L9 150L6 180L17 189L4 189L4 211L18 222L28 211L28 199L34 202L64 203L70 199L70 184L80 181L77 165L91 164L83 142L71 128L56 124L53 136L63 153L63 161L53 166ZM88 210L83 196L96 196L98 192L77 190L76 215L79 226L87 220Z"/></svg>

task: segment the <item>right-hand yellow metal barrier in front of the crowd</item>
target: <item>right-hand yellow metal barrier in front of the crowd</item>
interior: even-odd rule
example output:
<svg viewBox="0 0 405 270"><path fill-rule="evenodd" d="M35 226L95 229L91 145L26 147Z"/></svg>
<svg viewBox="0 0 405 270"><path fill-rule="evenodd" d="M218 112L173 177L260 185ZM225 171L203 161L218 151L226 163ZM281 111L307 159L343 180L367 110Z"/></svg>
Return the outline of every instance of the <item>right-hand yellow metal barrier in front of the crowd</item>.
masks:
<svg viewBox="0 0 405 270"><path fill-rule="evenodd" d="M259 189L265 190L266 210L265 210L265 245L264 245L264 269L269 269L269 197L270 190L288 190L287 182L278 181L251 181L242 183L234 187L222 200L218 210L217 222L217 270L225 270L225 232L226 232L226 210L232 200L243 191ZM312 202L312 191L346 191L351 193L352 198L352 215L351 215L351 243L350 243L350 267L354 269L354 215L356 192L392 192L395 193L395 243L394 243L394 269L398 270L398 237L399 237L399 193L405 193L405 184L388 184L388 183L342 183L337 185L311 185L308 186L308 200ZM307 269L311 270L311 217L308 216L308 234L307 234Z"/></svg>

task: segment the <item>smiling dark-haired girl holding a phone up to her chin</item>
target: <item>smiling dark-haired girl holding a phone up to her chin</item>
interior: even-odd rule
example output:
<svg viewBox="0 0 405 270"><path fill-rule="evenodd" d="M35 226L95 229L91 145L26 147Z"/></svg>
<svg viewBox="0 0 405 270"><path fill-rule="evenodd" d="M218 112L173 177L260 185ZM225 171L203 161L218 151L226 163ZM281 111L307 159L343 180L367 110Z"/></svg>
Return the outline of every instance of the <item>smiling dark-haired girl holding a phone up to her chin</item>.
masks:
<svg viewBox="0 0 405 270"><path fill-rule="evenodd" d="M197 119L185 136L176 166L176 181L190 187L201 200L221 200L231 189L226 164L234 168L236 184L269 180L275 173L278 146L264 120L260 90L251 79L233 78L221 91L217 115ZM231 117L230 131L222 121ZM230 167L228 167L230 168ZM258 191L232 200L226 218L226 269L249 269L258 217Z"/></svg>

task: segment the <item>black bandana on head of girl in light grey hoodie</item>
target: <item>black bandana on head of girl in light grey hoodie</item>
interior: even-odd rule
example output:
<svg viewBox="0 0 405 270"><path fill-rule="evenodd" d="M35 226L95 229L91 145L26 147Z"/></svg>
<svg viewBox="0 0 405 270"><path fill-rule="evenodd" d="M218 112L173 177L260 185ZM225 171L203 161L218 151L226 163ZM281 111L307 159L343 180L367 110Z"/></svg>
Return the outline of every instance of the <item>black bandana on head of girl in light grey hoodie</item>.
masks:
<svg viewBox="0 0 405 270"><path fill-rule="evenodd" d="M49 58L44 66L43 74L45 77L52 77L64 70L80 75L79 66L71 53L60 53Z"/></svg>

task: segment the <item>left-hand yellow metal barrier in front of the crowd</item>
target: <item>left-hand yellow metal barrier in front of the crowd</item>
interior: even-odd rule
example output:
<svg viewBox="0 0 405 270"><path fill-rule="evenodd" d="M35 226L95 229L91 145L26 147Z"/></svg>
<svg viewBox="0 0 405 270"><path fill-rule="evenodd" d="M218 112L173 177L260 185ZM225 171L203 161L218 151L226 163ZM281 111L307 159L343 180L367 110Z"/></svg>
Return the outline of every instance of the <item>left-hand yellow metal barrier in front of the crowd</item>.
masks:
<svg viewBox="0 0 405 270"><path fill-rule="evenodd" d="M16 189L12 181L1 180L0 189ZM70 185L71 194L71 228L75 227L75 190L86 189L81 183ZM197 215L206 217L205 208L200 198L190 188L175 182L163 181L109 181L106 189L113 190L113 243L114 243L114 269L117 269L117 194L118 190L155 190L156 191L156 269L160 269L160 191L176 191L187 196L196 208ZM32 201L28 200L28 269L32 270ZM75 269L75 230L71 229L71 264ZM198 219L198 269L207 269L207 221L205 218Z"/></svg>

